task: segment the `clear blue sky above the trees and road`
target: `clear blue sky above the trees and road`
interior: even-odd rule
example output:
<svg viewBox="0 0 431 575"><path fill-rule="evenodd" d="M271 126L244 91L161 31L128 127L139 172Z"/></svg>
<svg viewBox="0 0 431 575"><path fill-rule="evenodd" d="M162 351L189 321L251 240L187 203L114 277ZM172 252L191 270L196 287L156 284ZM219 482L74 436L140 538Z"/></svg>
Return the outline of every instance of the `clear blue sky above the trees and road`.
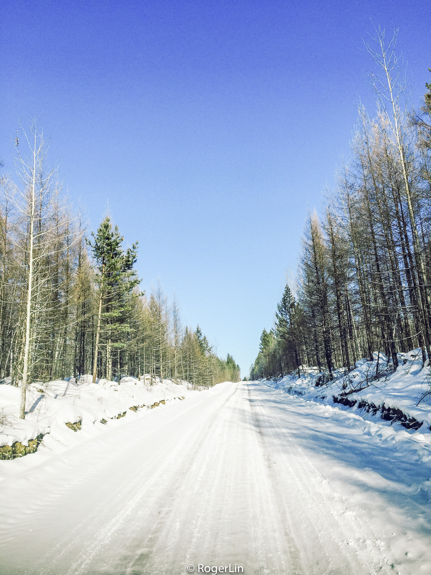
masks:
<svg viewBox="0 0 431 575"><path fill-rule="evenodd" d="M109 200L160 278L242 374L297 268L307 208L348 154L362 38L400 26L413 102L431 67L431 2L3 0L0 158L36 116L90 229Z"/></svg>

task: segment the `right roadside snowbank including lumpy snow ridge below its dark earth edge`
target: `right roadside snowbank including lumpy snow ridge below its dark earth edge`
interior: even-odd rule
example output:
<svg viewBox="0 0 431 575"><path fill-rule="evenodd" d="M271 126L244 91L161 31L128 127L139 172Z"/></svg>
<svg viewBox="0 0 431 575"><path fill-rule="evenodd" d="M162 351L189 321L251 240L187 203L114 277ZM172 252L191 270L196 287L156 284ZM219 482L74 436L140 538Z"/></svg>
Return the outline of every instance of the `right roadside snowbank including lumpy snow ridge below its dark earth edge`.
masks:
<svg viewBox="0 0 431 575"><path fill-rule="evenodd" d="M301 378L294 373L279 381L261 383L297 396L303 405L313 405L315 413L337 422L340 430L351 428L349 436L356 435L360 442L368 437L374 444L394 448L403 461L431 465L431 397L425 397L417 405L430 389L430 368L422 369L418 351L398 354L400 365L396 371L384 371L386 358L380 354L383 373L379 367L379 379L373 379L378 355L375 354L374 362L360 360L348 374L335 371L332 382L326 382L317 369L303 367ZM344 400L348 405L341 403ZM399 416L401 412L411 419L403 419ZM419 430L409 428L409 421L413 420L417 420ZM426 488L427 500L431 500L431 480Z"/></svg>

